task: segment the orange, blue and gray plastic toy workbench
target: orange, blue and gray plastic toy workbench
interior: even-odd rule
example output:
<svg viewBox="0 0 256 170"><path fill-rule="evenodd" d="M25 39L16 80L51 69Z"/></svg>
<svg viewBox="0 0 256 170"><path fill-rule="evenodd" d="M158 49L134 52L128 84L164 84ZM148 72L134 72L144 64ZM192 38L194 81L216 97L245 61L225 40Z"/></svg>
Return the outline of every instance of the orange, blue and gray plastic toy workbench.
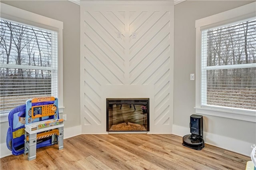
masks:
<svg viewBox="0 0 256 170"><path fill-rule="evenodd" d="M52 136L52 144L58 144L59 150L63 149L64 121L58 118L57 98L41 97L26 101L24 155L28 153L28 160L36 158L37 140L42 138Z"/></svg>

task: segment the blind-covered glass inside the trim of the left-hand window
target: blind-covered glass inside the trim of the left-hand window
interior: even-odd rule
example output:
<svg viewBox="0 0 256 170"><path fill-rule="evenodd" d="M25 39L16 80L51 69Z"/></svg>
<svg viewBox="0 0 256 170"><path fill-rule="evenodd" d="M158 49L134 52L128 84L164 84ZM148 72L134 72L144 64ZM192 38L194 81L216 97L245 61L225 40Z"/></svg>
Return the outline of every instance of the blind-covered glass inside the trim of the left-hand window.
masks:
<svg viewBox="0 0 256 170"><path fill-rule="evenodd" d="M57 97L57 32L0 19L0 113L34 97Z"/></svg>

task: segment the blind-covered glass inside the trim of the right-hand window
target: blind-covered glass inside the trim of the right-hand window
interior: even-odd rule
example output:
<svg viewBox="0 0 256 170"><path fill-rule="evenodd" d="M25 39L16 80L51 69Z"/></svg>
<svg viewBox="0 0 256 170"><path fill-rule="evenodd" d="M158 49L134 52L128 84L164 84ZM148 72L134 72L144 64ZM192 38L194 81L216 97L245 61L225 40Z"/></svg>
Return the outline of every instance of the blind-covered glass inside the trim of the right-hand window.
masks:
<svg viewBox="0 0 256 170"><path fill-rule="evenodd" d="M202 30L201 104L256 110L256 18Z"/></svg>

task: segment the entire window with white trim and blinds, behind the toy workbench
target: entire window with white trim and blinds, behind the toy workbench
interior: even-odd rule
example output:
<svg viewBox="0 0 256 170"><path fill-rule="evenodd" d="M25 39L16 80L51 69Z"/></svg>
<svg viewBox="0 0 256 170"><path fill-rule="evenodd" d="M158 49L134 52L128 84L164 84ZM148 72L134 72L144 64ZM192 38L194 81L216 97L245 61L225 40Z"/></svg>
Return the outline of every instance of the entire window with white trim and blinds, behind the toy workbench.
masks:
<svg viewBox="0 0 256 170"><path fill-rule="evenodd" d="M63 23L1 3L0 29L1 122L34 97L57 97L62 112Z"/></svg>

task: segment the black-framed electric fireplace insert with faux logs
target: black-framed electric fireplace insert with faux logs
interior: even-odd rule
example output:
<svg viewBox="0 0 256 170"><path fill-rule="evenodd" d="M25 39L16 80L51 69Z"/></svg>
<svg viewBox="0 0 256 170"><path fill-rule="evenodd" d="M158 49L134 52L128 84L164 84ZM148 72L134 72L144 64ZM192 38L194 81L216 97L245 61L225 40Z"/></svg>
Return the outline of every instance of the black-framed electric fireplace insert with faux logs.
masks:
<svg viewBox="0 0 256 170"><path fill-rule="evenodd" d="M149 131L149 98L106 99L107 131Z"/></svg>

